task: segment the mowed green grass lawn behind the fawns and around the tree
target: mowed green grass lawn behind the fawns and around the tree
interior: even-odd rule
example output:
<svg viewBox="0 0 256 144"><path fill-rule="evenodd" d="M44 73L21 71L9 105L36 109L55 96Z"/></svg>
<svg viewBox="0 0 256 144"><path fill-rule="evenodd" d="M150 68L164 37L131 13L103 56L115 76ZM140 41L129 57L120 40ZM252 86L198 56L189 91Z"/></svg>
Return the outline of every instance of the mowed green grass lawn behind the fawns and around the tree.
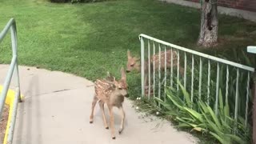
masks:
<svg viewBox="0 0 256 144"><path fill-rule="evenodd" d="M156 0L53 4L44 0L0 0L0 28L18 25L19 63L61 70L95 80L119 74L126 50L139 54L138 34L197 49L200 11ZM256 24L220 16L223 49L256 44ZM246 36L245 36L246 35ZM10 62L10 39L0 45L0 62Z"/></svg>

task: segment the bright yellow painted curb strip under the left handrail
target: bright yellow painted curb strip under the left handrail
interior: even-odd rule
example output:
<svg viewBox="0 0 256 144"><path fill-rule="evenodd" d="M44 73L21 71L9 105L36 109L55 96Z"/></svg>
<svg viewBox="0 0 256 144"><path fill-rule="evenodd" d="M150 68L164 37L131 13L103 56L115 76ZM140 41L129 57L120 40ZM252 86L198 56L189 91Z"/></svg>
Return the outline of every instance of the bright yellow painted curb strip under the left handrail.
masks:
<svg viewBox="0 0 256 144"><path fill-rule="evenodd" d="M0 86L0 93L1 92L2 92L2 86ZM6 125L6 133L5 133L5 138L4 138L3 144L7 143L7 134L9 132L10 121L11 121L13 107L14 107L14 96L15 96L15 91L8 90L7 95L6 95L6 104L9 105L9 116L8 116L8 122ZM24 96L22 94L21 94L21 98L22 98L22 100L24 98Z"/></svg>

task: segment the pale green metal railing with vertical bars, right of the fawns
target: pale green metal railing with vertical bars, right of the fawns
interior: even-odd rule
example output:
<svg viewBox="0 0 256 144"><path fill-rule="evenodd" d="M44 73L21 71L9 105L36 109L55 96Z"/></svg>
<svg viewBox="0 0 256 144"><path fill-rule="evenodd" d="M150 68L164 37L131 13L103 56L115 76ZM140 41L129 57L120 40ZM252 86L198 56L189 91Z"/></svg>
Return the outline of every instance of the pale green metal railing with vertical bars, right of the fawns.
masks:
<svg viewBox="0 0 256 144"><path fill-rule="evenodd" d="M249 112L248 105L250 100L250 78L254 72L253 67L245 66L236 62L230 62L226 59L217 58L195 50L187 49L182 46L177 46L169 42L164 42L157 38L152 38L146 34L140 34L139 39L141 42L142 96L146 96L144 89L145 77L150 80L150 78L153 76L153 86L150 86L149 81L149 90L147 90L149 98L151 94L150 89L153 89L153 97L165 99L166 89L162 90L162 87L171 86L178 90L177 83L180 81L185 89L189 90L192 102L195 99L195 94L197 94L198 99L201 99L202 96L204 96L204 100L207 102L207 104L214 106L214 112L215 114L218 114L218 98L219 90L221 88L220 81L222 79L222 89L225 91L224 94L226 102L231 97L234 98L234 119L236 121L238 120L238 116L240 116L238 115L238 106L241 102L238 100L242 97L246 98L245 110L241 110L240 113L242 113L246 119L245 126L247 125ZM169 60L166 57L167 50L170 50L169 54L171 56L169 57ZM158 54L156 54L157 52ZM160 53L164 54L161 56ZM173 58L174 53L176 55L175 58ZM163 61L158 60L158 63L155 62L154 59L150 59L152 56L151 54L158 56L158 58L162 59ZM145 58L148 59L145 60ZM153 61L151 62L152 65L148 64L148 72L145 72L146 61L148 61L148 63ZM170 69L169 72L166 68L167 61L170 62L168 63L170 64L170 68L168 68ZM156 65L158 65L158 69L156 69ZM153 68L150 66L153 66ZM162 70L160 69L160 66L164 66ZM174 68L177 70L174 70ZM179 71L181 68L183 69L182 73ZM204 74L204 77L202 74ZM170 78L167 78L167 75L170 75ZM188 77L188 75L190 77ZM175 78L177 78L177 82L174 80ZM241 81L241 78L244 78L244 80ZM233 81L231 82L231 80ZM234 88L233 91L230 90L230 87ZM202 90L204 90L204 95L202 95ZM241 93L241 90L244 91L243 94L239 94ZM231 92L232 94L230 94Z"/></svg>

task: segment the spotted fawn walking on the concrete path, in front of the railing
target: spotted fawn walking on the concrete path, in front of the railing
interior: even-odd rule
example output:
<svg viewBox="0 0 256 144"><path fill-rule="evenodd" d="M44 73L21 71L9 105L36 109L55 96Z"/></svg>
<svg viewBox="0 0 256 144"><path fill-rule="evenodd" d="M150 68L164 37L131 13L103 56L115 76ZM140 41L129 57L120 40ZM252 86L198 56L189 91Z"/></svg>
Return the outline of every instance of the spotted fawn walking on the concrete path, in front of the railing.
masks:
<svg viewBox="0 0 256 144"><path fill-rule="evenodd" d="M126 84L126 72L125 70L121 69L122 78L119 81L116 81L114 77L110 75L106 79L97 79L94 86L95 95L94 100L92 102L91 107L91 114L90 114L90 123L94 121L94 107L98 102L101 111L102 111L102 119L104 122L104 126L106 129L109 129L109 126L106 122L106 115L104 110L104 104L109 109L110 113L110 128L111 128L111 136L115 139L115 132L114 132L114 114L113 114L113 107L116 106L121 111L121 126L119 129L119 134L121 134L123 127L124 127L124 119L125 119L125 112L122 108L122 103L124 102L124 97L128 96L127 93L127 84Z"/></svg>

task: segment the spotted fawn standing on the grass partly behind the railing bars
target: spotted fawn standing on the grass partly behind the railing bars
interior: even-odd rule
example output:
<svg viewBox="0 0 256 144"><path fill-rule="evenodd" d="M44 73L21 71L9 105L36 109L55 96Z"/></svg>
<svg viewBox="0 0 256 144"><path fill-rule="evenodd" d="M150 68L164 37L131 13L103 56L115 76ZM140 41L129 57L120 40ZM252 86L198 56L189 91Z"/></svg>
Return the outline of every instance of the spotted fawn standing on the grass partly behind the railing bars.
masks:
<svg viewBox="0 0 256 144"><path fill-rule="evenodd" d="M149 65L150 65L150 72L153 70L159 70L159 66L160 66L160 70L164 70L165 69L165 60L166 60L166 68L170 68L171 66L171 57L173 58L173 67L174 66L178 66L178 54L176 51L171 51L171 50L166 50L166 59L165 59L165 52L161 51L160 52L160 58L159 58L159 53L158 54L154 54L150 57L150 64L148 62L148 60L144 61L144 74L145 74L145 81L144 81L144 89L148 89L148 73L149 73ZM159 65L159 62L161 63L161 65ZM127 50L127 67L126 67L126 72L129 73L132 70L136 70L138 72L141 71L141 61L140 58L136 58L133 57L130 54L130 50ZM183 68L182 66L179 66L179 72L182 74ZM152 89L151 89L152 90Z"/></svg>

